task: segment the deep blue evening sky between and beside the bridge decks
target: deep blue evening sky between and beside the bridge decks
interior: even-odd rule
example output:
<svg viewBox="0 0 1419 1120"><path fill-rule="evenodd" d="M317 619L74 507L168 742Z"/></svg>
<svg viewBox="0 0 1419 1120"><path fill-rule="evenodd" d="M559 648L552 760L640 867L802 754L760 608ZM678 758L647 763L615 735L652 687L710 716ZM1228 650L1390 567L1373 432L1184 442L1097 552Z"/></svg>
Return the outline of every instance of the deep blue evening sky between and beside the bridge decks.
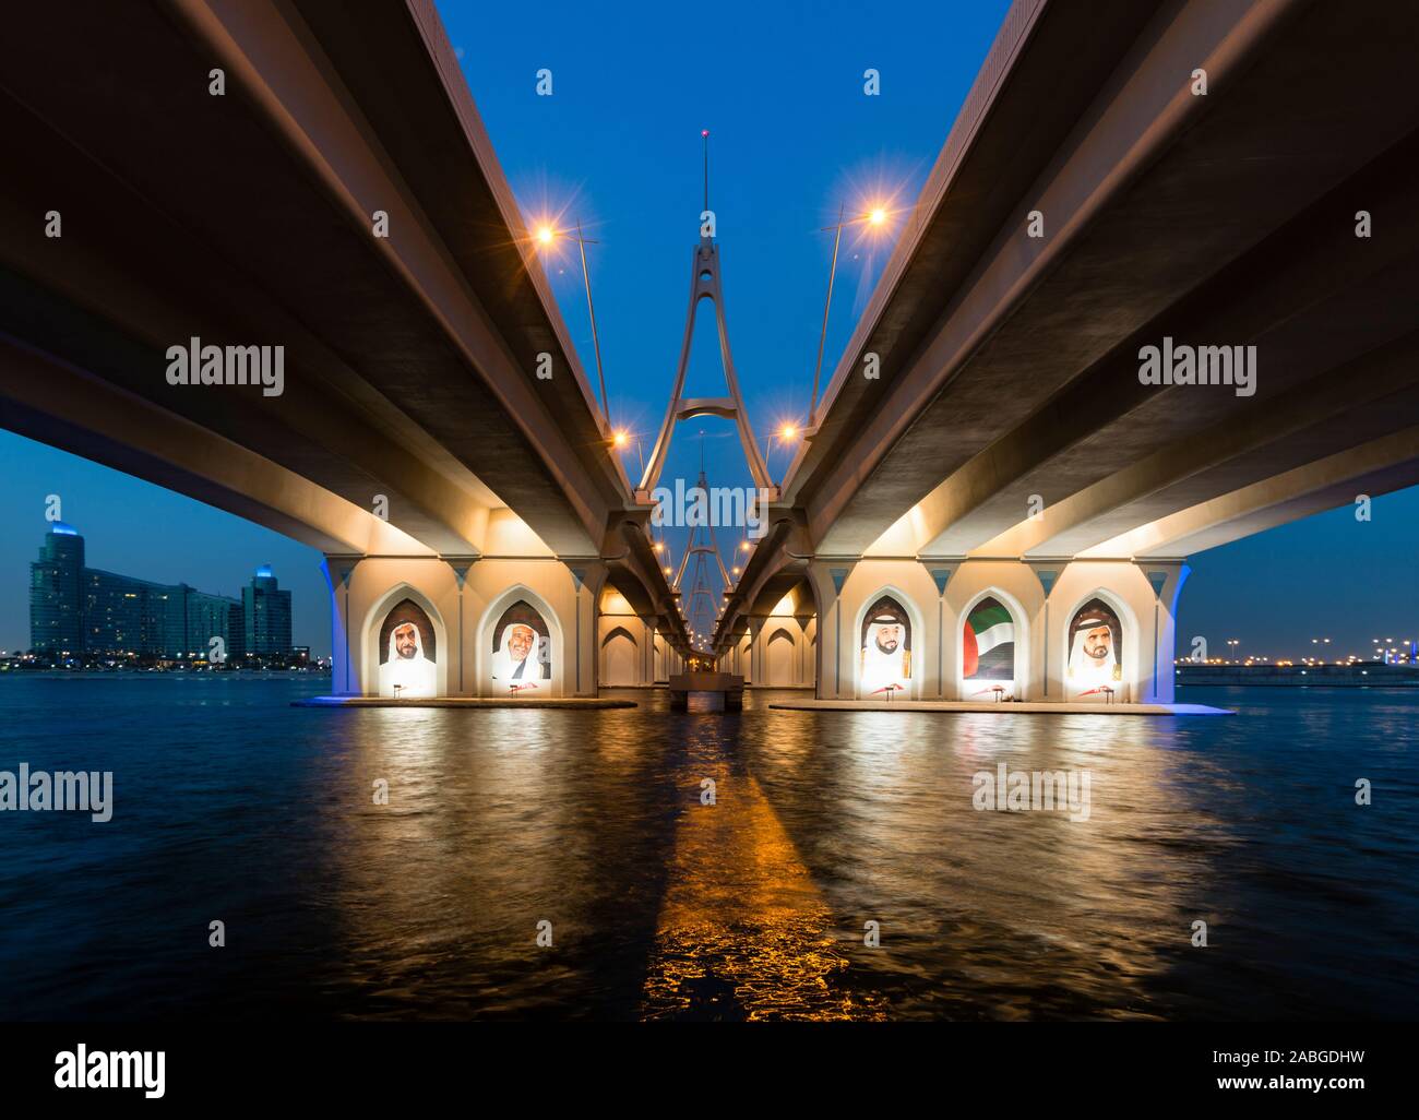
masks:
<svg viewBox="0 0 1419 1120"><path fill-rule="evenodd" d="M908 11L907 9L920 9ZM727 317L755 429L807 409L823 314L830 234L849 212L915 199L1006 10L1003 0L619 4L443 3L448 37L528 216L580 220L613 419L648 443L661 422L684 331L690 254L702 193L700 129L711 131L711 209L718 216ZM904 33L912 28L911 33ZM552 71L552 97L535 92ZM864 97L863 71L881 74ZM890 237L844 238L824 380L863 309ZM551 260L553 287L595 379L575 256ZM701 312L710 309L708 304ZM701 314L701 328L712 319ZM718 348L697 329L687 392L715 395ZM700 433L704 432L704 439ZM711 481L748 483L731 426L683 424L666 478L694 478L701 444ZM772 471L788 461L775 447ZM636 456L627 461L634 476ZM295 640L329 650L319 555L176 494L0 433L0 647L27 644L27 568L44 534L44 497L64 498L95 566L183 579L234 593L271 562L295 592ZM1253 653L1298 654L1328 635L1344 653L1415 626L1419 493L1381 498L1369 524L1348 510L1213 549L1193 559L1179 646L1206 635ZM728 552L729 541L722 541ZM1388 629L1385 629L1388 627ZM1419 626L1415 626L1419 630ZM1419 637L1419 633L1409 635Z"/></svg>

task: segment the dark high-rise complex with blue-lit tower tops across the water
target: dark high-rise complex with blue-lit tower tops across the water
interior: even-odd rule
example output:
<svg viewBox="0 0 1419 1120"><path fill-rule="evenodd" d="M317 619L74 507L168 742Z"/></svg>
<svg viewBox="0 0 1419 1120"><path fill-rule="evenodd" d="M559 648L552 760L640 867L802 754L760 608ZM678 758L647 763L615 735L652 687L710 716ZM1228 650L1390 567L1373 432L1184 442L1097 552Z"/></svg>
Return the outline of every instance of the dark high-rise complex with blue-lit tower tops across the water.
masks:
<svg viewBox="0 0 1419 1120"><path fill-rule="evenodd" d="M253 602L263 610L261 652L289 653L291 592L277 591L275 576L265 566L253 585L261 585ZM248 650L257 652L247 632L241 599L84 566L84 538L62 521L50 527L40 559L30 565L34 650L177 659L209 657L220 650L240 659Z"/></svg>

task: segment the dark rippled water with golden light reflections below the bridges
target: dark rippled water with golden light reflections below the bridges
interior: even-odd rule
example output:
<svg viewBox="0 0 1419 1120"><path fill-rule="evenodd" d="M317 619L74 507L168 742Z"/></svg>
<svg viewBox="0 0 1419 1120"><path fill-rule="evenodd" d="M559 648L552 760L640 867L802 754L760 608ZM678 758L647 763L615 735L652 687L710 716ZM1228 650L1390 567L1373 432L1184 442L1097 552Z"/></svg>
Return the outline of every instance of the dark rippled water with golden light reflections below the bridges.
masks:
<svg viewBox="0 0 1419 1120"><path fill-rule="evenodd" d="M0 679L0 769L112 769L116 802L0 813L0 1018L1419 1014L1419 693L1185 690L1235 718L288 707L325 687ZM1087 769L1088 819L978 811L999 762Z"/></svg>

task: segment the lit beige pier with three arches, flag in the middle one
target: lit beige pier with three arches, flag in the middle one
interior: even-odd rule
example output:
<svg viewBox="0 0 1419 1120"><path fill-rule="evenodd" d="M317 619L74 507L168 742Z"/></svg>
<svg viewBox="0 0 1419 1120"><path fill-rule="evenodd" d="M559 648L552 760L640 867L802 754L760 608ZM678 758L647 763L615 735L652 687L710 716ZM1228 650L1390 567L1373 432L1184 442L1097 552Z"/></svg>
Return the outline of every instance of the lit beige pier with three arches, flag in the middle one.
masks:
<svg viewBox="0 0 1419 1120"><path fill-rule="evenodd" d="M816 694L1171 704L1188 571L1182 561L816 559Z"/></svg>

